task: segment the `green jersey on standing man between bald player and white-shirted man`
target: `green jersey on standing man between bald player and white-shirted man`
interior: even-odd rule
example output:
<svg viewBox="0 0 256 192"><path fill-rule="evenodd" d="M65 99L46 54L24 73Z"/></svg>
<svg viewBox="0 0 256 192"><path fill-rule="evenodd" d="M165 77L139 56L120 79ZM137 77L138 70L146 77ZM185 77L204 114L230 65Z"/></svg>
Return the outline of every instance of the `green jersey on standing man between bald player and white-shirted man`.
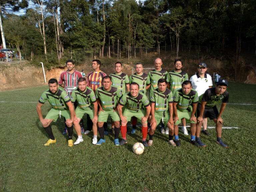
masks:
<svg viewBox="0 0 256 192"><path fill-rule="evenodd" d="M170 83L172 93L174 93L175 90L180 89L182 87L182 83L186 80L188 80L188 74L184 71L179 73L174 70L170 71L166 78L166 81Z"/></svg>

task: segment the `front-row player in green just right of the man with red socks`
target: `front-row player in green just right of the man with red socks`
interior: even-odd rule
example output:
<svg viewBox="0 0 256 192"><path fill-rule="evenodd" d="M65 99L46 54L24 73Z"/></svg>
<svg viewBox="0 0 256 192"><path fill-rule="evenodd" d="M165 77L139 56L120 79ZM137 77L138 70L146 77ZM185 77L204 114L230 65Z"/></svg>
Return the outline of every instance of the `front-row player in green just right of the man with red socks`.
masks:
<svg viewBox="0 0 256 192"><path fill-rule="evenodd" d="M151 121L149 129L149 141L148 145L153 144L153 135L155 133L156 126L162 121L164 125L168 127L169 131L169 144L173 147L176 144L173 141L174 135L174 123L173 123L173 106L172 106L172 92L166 89L167 82L165 79L159 79L157 88L150 93L150 105L151 105Z"/></svg>

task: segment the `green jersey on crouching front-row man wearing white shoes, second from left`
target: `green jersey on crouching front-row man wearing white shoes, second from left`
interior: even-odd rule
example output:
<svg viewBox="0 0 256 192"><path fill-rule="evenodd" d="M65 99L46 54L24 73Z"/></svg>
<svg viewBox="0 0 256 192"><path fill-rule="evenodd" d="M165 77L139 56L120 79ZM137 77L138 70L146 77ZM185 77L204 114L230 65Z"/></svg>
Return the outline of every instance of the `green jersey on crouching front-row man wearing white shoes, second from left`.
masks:
<svg viewBox="0 0 256 192"><path fill-rule="evenodd" d="M84 92L81 92L78 87L72 91L70 97L72 103L77 101L80 109L93 109L93 103L96 102L96 97L93 90L90 87L86 87Z"/></svg>

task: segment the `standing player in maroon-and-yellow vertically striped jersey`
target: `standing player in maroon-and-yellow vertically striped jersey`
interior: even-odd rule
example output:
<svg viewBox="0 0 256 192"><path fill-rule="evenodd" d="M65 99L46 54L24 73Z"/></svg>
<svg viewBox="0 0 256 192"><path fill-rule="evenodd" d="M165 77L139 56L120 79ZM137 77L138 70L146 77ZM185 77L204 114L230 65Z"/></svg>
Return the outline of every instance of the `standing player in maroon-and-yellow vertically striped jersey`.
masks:
<svg viewBox="0 0 256 192"><path fill-rule="evenodd" d="M92 60L92 69L90 73L87 75L87 87L90 87L93 92L95 93L96 89L101 87L102 79L106 76L106 73L102 72L100 70L101 62L98 59ZM106 126L106 125L105 125ZM90 116L87 114L87 130L84 132L84 134L89 134L92 130L92 121L90 119ZM106 133L107 130L106 130Z"/></svg>

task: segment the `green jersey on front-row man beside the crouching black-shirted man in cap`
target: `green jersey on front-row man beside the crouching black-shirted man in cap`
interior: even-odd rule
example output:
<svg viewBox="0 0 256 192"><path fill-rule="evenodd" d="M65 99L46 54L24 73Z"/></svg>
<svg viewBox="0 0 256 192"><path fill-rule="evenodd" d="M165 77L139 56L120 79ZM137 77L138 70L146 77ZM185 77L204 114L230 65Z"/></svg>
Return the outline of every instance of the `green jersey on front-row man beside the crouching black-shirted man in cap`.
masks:
<svg viewBox="0 0 256 192"><path fill-rule="evenodd" d="M178 89L173 95L173 102L178 103L177 110L179 111L192 111L192 103L198 103L197 92L191 89L190 92L185 95L182 89Z"/></svg>

